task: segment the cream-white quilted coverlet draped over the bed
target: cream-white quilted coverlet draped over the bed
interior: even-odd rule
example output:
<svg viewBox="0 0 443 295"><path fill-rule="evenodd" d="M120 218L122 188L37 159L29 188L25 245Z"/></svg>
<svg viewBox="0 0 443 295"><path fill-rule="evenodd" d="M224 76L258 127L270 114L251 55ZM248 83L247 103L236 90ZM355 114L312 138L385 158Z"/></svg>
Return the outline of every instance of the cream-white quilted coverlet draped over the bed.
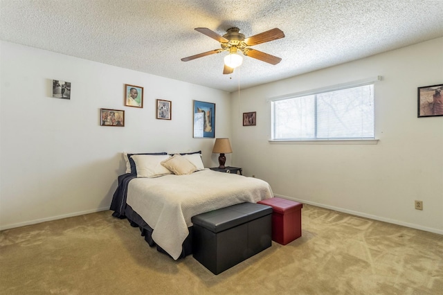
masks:
<svg viewBox="0 0 443 295"><path fill-rule="evenodd" d="M154 229L156 244L177 260L192 216L270 197L271 186L261 179L201 170L192 175L133 179L127 204Z"/></svg>

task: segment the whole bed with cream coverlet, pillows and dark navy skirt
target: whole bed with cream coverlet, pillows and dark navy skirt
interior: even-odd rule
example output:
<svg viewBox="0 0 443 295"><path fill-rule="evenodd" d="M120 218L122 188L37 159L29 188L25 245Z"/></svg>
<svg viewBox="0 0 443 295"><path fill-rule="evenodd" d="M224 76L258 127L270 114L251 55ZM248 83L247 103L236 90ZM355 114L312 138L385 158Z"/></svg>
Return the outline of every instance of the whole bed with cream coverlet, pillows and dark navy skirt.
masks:
<svg viewBox="0 0 443 295"><path fill-rule="evenodd" d="M174 260L192 253L192 216L273 197L266 181L205 169L198 152L129 154L127 159L127 173L118 177L111 203L113 215L138 226L148 244Z"/></svg>

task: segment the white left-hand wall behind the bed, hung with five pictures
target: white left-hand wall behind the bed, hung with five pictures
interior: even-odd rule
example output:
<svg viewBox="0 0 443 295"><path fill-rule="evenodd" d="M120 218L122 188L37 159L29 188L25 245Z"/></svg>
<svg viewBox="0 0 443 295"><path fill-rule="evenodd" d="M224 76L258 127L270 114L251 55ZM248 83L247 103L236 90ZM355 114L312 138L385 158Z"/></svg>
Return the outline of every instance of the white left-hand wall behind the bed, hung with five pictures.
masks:
<svg viewBox="0 0 443 295"><path fill-rule="evenodd" d="M192 100L215 102L215 136L230 137L229 93L36 48L1 42L0 229L107 210L125 172L122 152L202 150L192 138ZM71 82L71 100L52 98ZM144 107L125 107L124 84L144 87ZM155 100L172 101L156 120ZM100 126L100 108L125 110L125 127ZM227 163L230 163L230 155Z"/></svg>

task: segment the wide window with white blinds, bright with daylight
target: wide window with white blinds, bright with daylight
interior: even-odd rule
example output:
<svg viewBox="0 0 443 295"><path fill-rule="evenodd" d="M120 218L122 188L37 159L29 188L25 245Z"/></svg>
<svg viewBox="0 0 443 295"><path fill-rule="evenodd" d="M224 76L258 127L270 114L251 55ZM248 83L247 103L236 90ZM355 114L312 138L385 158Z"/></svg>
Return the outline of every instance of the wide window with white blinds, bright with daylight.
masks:
<svg viewBox="0 0 443 295"><path fill-rule="evenodd" d="M374 139L374 84L271 101L272 140Z"/></svg>

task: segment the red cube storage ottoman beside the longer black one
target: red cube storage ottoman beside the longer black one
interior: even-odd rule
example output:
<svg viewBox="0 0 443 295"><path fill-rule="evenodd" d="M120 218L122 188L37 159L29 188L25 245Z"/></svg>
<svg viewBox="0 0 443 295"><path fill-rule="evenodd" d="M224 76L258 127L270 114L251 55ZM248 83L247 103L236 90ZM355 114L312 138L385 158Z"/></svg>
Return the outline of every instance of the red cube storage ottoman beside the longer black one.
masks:
<svg viewBox="0 0 443 295"><path fill-rule="evenodd" d="M301 237L303 204L280 197L264 199L258 203L271 206L273 209L273 241L285 245Z"/></svg>

